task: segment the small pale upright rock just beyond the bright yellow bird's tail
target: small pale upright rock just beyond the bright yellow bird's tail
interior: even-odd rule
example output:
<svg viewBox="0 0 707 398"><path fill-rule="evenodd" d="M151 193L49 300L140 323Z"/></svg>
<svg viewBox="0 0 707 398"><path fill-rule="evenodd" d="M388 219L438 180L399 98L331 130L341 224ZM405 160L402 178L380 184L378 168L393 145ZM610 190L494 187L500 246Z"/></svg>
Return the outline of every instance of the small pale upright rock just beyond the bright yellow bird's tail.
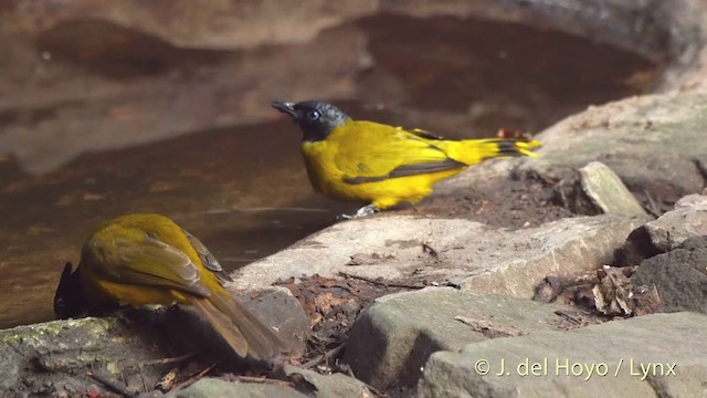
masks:
<svg viewBox="0 0 707 398"><path fill-rule="evenodd" d="M558 184L563 206L578 214L645 216L641 203L606 165L592 161Z"/></svg>

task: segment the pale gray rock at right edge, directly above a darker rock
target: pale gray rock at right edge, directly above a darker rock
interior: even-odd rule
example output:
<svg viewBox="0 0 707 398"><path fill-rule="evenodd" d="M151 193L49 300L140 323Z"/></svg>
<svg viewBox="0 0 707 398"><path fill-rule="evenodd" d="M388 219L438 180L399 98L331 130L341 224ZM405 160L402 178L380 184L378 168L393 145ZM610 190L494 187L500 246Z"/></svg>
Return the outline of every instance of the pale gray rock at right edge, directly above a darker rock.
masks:
<svg viewBox="0 0 707 398"><path fill-rule="evenodd" d="M687 238L707 235L707 196L688 195L675 209L645 224L651 243L658 251L679 247Z"/></svg>

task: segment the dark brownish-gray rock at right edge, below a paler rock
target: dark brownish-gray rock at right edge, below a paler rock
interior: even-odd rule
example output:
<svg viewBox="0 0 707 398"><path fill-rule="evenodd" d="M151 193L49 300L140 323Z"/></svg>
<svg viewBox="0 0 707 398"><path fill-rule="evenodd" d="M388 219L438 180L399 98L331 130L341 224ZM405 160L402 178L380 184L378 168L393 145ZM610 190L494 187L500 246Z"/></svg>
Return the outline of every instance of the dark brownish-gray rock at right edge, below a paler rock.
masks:
<svg viewBox="0 0 707 398"><path fill-rule="evenodd" d="M663 254L644 260L633 283L655 286L661 311L707 313L707 237L688 238Z"/></svg>

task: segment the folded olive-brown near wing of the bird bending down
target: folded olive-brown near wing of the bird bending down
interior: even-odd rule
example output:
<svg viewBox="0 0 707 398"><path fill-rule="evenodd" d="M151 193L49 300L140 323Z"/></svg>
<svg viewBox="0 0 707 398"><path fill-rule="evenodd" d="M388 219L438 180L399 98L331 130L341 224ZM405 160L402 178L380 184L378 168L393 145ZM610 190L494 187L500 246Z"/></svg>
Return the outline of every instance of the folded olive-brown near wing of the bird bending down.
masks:
<svg viewBox="0 0 707 398"><path fill-rule="evenodd" d="M199 270L187 254L143 231L131 232L88 241L83 253L85 264L93 272L116 283L210 295L200 283Z"/></svg>

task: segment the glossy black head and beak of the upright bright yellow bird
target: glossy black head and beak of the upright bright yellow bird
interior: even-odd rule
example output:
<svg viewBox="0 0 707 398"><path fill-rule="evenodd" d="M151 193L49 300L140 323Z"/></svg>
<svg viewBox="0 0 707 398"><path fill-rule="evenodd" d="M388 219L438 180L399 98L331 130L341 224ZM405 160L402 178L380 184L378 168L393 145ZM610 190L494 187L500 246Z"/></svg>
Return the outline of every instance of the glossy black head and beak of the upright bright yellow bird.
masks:
<svg viewBox="0 0 707 398"><path fill-rule="evenodd" d="M303 101L296 104L275 101L272 105L275 109L292 116L304 133L304 142L323 140L335 127L350 119L338 107L320 101Z"/></svg>

